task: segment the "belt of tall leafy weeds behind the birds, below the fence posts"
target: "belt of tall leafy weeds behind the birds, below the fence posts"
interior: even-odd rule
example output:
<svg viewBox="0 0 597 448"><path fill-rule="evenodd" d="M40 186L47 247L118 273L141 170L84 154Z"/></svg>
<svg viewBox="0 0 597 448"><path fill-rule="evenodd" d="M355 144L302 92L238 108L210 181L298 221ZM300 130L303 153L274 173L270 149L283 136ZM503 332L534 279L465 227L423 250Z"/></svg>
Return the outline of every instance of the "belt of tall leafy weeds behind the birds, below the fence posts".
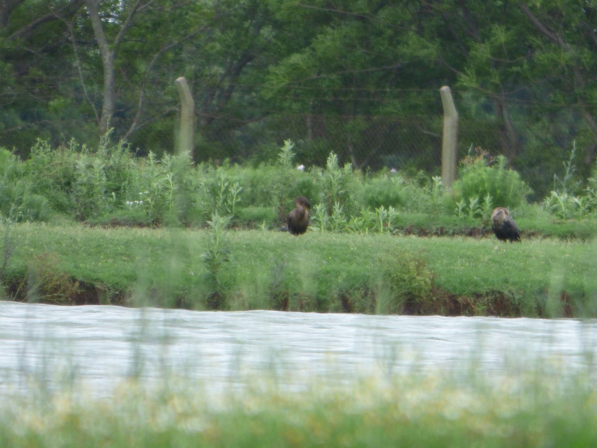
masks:
<svg viewBox="0 0 597 448"><path fill-rule="evenodd" d="M39 141L26 161L0 151L0 212L21 220L59 213L91 223L143 226L206 226L217 214L232 217L235 226L271 228L301 195L312 204L314 231L383 233L406 226L405 213L441 219L439 214L452 215L456 206L476 220L498 205L518 207L528 192L504 158L491 164L484 154L463 162L448 195L439 177L362 173L351 164L340 167L333 152L325 168L305 168L294 161L293 148L287 140L274 164L195 166L184 154L134 158L127 145L106 139L97 151L75 142L53 149Z"/></svg>

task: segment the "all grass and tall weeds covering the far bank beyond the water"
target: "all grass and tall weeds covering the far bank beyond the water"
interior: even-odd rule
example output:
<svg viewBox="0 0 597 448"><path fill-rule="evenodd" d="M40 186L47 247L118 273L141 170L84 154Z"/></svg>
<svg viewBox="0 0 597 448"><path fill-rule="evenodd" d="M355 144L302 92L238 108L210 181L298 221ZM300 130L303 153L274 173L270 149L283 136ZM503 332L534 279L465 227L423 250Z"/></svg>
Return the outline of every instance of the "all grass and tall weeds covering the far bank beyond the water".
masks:
<svg viewBox="0 0 597 448"><path fill-rule="evenodd" d="M572 180L574 149L562 180L555 177L560 189L528 204L529 189L506 159L479 148L447 191L437 176L341 167L334 152L324 168L297 165L290 140L271 165L253 168L195 166L187 154L134 158L108 137L94 151L40 140L25 161L0 151L6 297L192 309L595 313L587 279L597 175L583 189ZM574 208L562 198L576 192ZM306 235L288 238L284 216L298 195L312 202L311 223ZM523 229L520 247L491 236L498 205ZM563 280L554 283L554 275Z"/></svg>

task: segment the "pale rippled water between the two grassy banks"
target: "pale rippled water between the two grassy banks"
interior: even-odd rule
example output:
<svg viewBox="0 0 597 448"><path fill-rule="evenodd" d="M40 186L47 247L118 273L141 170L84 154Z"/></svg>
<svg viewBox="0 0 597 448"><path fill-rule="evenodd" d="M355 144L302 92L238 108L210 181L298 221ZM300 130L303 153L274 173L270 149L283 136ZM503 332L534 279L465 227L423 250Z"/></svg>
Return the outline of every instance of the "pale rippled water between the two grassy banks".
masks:
<svg viewBox="0 0 597 448"><path fill-rule="evenodd" d="M107 395L131 376L158 384L181 376L217 392L263 376L300 388L368 375L531 370L597 379L596 342L596 320L0 302L0 387L80 382Z"/></svg>

